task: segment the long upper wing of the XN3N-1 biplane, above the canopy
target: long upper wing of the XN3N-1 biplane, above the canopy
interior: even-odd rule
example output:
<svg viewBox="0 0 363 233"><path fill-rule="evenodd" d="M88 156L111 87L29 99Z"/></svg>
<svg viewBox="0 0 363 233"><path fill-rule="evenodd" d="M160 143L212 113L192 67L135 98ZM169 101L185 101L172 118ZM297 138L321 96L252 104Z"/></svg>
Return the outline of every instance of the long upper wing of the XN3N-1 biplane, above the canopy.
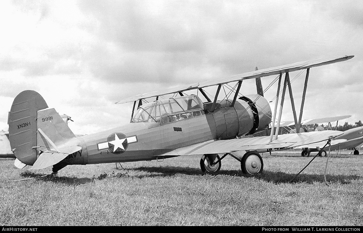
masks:
<svg viewBox="0 0 363 233"><path fill-rule="evenodd" d="M219 85L219 84L226 84L228 82L240 81L240 80L243 80L243 79L255 79L255 78L258 78L258 77L278 75L280 73L293 72L293 71L298 71L298 70L301 70L301 69L307 69L307 68L311 68L311 67L317 67L317 66L321 66L321 65L327 65L327 64L332 64L332 63L336 63L336 62L342 62L342 61L349 60L349 59L351 59L353 57L354 57L353 55L351 55L351 56L335 56L335 57L331 57L331 58L308 60L308 61L305 61L305 62L297 62L297 63L282 65L282 66L273 67L273 68L260 69L260 70L257 70L257 71L242 73L242 74L239 74L239 75L233 75L233 76L229 76L229 77L225 77L225 78L221 78L221 79L217 79L217 80L197 82L197 83L191 84L191 85L176 86L176 87L164 89L162 91L155 91L155 92L149 92L149 93L145 93L145 94L139 94L139 95L136 95L136 96L133 96L133 97L122 99L121 101L118 101L116 103L132 102L132 101L136 101L136 100L139 100L139 99L145 99L145 98L156 97L156 96L163 96L163 95L166 95L166 94L184 92L184 91L187 91L187 90L204 88L204 87L208 87L208 86L215 86L215 85Z"/></svg>

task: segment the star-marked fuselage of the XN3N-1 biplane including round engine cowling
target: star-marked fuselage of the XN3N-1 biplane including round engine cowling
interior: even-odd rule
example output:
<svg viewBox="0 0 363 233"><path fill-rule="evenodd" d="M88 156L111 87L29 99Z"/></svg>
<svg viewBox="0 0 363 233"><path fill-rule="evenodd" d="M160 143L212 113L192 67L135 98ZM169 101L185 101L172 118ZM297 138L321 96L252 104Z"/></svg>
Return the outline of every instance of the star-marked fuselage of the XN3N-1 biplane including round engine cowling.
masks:
<svg viewBox="0 0 363 233"><path fill-rule="evenodd" d="M70 154L60 164L98 164L156 160L176 148L208 140L233 139L265 129L271 110L261 96L219 101L214 111L212 103L203 109L173 122L137 122L97 134L78 137L81 152ZM252 106L253 105L253 106Z"/></svg>

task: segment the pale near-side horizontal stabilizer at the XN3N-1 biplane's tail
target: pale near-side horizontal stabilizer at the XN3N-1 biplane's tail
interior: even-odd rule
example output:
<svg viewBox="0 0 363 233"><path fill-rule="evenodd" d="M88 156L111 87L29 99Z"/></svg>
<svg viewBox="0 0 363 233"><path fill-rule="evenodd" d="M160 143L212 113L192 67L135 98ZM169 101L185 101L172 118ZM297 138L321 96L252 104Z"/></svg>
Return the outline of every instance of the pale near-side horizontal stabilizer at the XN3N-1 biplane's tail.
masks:
<svg viewBox="0 0 363 233"><path fill-rule="evenodd" d="M44 169L62 161L69 154L80 151L82 147L71 146L66 148L58 148L60 152L43 152L34 162L31 170Z"/></svg>

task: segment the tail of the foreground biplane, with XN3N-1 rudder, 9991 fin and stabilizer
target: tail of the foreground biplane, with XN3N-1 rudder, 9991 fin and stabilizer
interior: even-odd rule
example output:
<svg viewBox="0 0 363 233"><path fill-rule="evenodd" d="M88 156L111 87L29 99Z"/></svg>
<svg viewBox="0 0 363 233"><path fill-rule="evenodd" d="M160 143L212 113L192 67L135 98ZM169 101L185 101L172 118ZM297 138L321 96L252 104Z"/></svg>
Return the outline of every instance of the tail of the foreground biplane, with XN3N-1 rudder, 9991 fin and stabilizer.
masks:
<svg viewBox="0 0 363 233"><path fill-rule="evenodd" d="M17 159L32 169L57 164L82 149L67 124L37 92L27 90L15 97L9 112L9 141Z"/></svg>

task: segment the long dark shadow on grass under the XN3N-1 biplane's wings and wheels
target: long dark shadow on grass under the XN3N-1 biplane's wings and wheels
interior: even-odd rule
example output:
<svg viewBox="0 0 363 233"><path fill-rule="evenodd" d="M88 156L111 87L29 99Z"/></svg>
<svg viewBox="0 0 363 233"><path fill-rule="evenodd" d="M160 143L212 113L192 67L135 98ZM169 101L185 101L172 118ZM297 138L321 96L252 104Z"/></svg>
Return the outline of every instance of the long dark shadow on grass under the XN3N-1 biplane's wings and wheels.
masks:
<svg viewBox="0 0 363 233"><path fill-rule="evenodd" d="M135 175L136 177L166 177L173 176L176 174L185 174L185 175L203 175L200 169L188 168L188 167L173 167L173 166L165 166L165 167L140 167L133 169L125 169L128 171L144 171L147 174ZM324 175L318 174L288 174L281 171L264 171L262 174L257 174L253 176L245 175L240 170L220 170L216 174L212 175L227 175L234 177L246 177L246 178L256 178L261 179L267 182L273 183L314 183L321 182L325 183ZM296 176L297 175L297 176ZM362 177L358 175L327 175L326 181L328 183L340 183L340 184L349 184L352 180L360 179Z"/></svg>

